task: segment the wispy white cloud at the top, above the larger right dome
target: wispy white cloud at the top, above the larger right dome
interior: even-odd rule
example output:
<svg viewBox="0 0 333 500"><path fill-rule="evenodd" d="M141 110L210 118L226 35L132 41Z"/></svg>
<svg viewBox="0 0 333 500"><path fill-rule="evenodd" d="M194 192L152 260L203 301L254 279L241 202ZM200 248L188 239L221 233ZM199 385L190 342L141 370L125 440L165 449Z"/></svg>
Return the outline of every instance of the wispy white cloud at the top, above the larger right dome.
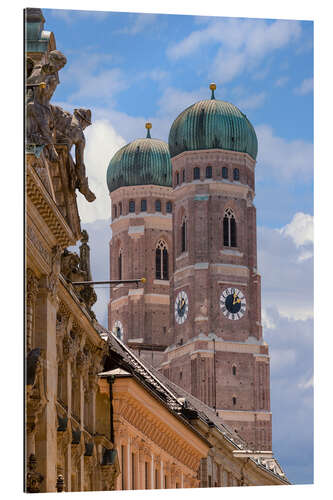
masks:
<svg viewBox="0 0 333 500"><path fill-rule="evenodd" d="M218 44L210 75L218 82L229 82L245 71L253 72L269 53L287 46L300 35L299 21L213 19L204 28L170 45L167 55L177 61L209 44Z"/></svg>

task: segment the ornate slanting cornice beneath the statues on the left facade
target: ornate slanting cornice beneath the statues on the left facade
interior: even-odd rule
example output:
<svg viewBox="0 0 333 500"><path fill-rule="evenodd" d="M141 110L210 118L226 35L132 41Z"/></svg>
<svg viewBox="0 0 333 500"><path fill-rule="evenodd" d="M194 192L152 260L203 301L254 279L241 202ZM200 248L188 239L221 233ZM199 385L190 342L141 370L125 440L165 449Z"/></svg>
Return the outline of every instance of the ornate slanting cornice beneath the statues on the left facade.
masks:
<svg viewBox="0 0 333 500"><path fill-rule="evenodd" d="M76 238L33 167L26 165L26 193L62 248L75 245Z"/></svg>

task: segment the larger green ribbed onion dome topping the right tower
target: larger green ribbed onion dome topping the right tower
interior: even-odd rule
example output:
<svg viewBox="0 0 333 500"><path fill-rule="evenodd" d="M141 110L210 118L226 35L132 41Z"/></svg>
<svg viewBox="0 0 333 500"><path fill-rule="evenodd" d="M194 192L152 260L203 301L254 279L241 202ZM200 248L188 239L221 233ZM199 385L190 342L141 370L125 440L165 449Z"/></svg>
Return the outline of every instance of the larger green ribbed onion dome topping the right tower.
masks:
<svg viewBox="0 0 333 500"><path fill-rule="evenodd" d="M173 122L169 134L171 157L183 151L227 149L257 157L258 141L253 126L236 106L215 99L215 83L210 85L211 99L186 108Z"/></svg>

